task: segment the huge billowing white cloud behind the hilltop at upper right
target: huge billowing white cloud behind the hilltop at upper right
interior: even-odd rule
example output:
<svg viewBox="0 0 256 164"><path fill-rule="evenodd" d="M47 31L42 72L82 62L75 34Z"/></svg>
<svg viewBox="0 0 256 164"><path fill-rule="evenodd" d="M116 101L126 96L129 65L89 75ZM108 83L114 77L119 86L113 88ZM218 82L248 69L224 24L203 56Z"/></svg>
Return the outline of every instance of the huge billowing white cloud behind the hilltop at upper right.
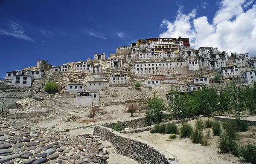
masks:
<svg viewBox="0 0 256 164"><path fill-rule="evenodd" d="M164 19L165 31L160 37L189 37L194 48L218 47L220 51L256 53L256 4L245 10L245 0L222 0L213 22L206 16L195 17L196 11L183 14L179 9L174 21ZM248 7L248 6L246 6Z"/></svg>

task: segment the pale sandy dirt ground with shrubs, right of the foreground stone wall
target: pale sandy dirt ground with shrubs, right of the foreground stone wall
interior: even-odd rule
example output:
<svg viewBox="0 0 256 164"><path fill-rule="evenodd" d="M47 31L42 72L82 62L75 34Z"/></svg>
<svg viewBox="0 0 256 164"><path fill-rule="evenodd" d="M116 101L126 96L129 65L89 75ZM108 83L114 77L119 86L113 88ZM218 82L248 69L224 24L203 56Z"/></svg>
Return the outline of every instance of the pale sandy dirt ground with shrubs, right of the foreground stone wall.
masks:
<svg viewBox="0 0 256 164"><path fill-rule="evenodd" d="M195 125L195 120L189 121L189 124ZM177 124L180 126L180 124ZM204 132L207 132L210 128L205 128ZM252 131L255 133L256 128ZM212 131L212 129L211 129ZM255 138L251 138L253 132L241 132L239 136L239 144L244 144L246 141L256 141ZM149 131L127 134L134 138L142 138L145 141L161 147L168 152L177 156L179 161L183 164L240 164L243 163L240 158L233 155L222 154L218 152L217 140L218 136L213 136L211 132L211 144L209 147L204 147L201 144L192 144L189 138L177 137L174 140L169 140L168 134L151 134Z"/></svg>

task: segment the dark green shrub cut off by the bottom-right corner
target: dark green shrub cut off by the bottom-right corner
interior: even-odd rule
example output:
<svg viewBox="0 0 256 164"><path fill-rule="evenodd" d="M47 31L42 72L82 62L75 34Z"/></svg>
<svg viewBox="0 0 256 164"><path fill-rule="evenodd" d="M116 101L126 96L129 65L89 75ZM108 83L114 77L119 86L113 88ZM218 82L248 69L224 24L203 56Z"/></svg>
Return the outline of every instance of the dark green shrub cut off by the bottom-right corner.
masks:
<svg viewBox="0 0 256 164"><path fill-rule="evenodd" d="M244 158L244 161L256 164L256 145L255 143L240 147L240 154Z"/></svg>

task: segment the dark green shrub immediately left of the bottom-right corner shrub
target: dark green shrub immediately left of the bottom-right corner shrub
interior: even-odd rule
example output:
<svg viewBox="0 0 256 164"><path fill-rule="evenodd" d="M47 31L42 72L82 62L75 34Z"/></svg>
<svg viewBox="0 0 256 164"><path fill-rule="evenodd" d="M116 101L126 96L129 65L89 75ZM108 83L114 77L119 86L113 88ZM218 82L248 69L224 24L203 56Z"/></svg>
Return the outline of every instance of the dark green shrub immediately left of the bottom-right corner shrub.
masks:
<svg viewBox="0 0 256 164"><path fill-rule="evenodd" d="M222 134L218 138L217 146L224 153L231 153L233 155L239 156L239 147L235 140L227 134Z"/></svg>

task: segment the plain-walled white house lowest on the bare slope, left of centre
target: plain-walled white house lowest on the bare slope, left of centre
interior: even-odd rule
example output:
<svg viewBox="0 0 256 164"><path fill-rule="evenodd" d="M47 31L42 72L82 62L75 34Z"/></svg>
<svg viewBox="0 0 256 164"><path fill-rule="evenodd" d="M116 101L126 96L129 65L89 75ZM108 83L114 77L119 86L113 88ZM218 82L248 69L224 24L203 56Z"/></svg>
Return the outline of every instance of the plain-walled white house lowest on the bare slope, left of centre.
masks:
<svg viewBox="0 0 256 164"><path fill-rule="evenodd" d="M76 108L99 104L99 92L78 92L76 95Z"/></svg>

